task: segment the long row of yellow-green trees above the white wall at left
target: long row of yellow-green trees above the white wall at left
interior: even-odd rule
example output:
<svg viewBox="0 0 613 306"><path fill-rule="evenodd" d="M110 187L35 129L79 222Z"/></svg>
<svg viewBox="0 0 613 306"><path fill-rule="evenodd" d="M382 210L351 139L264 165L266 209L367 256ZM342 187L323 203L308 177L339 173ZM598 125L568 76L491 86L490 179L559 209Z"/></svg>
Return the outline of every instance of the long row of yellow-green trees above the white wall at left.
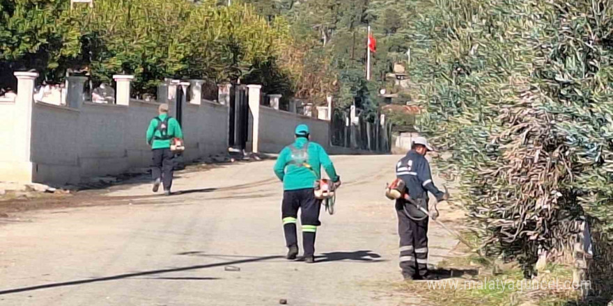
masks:
<svg viewBox="0 0 613 306"><path fill-rule="evenodd" d="M217 6L215 0L98 0L94 8L69 7L69 0L0 1L3 75L34 69L59 82L68 68L88 67L95 82L134 74L137 94L155 91L166 77L266 79L276 86L271 90L291 93L288 72L274 63L288 47L283 18L268 22L249 5Z"/></svg>

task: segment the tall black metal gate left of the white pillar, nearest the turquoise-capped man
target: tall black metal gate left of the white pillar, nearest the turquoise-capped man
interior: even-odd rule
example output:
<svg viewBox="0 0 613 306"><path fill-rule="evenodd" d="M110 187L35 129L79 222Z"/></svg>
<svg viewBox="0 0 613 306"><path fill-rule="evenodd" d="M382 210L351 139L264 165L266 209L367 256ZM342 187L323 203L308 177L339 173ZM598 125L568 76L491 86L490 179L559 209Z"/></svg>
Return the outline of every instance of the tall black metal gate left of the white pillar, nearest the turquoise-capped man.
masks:
<svg viewBox="0 0 613 306"><path fill-rule="evenodd" d="M236 85L230 92L230 146L245 150L249 138L249 102L247 86Z"/></svg>

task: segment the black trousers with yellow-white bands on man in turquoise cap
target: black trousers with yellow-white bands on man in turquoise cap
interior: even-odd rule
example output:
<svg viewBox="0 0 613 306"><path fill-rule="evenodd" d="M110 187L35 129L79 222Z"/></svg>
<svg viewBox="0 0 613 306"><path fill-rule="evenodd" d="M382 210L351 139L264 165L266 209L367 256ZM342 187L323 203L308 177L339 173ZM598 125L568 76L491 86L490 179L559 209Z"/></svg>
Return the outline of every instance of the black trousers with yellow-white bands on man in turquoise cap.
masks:
<svg viewBox="0 0 613 306"><path fill-rule="evenodd" d="M300 223L302 223L302 247L304 256L315 254L315 236L319 222L319 212L321 200L315 198L313 188L284 191L283 203L281 204L281 218L283 219L283 230L285 233L286 245L298 244L296 236L296 221L298 209L300 213Z"/></svg>

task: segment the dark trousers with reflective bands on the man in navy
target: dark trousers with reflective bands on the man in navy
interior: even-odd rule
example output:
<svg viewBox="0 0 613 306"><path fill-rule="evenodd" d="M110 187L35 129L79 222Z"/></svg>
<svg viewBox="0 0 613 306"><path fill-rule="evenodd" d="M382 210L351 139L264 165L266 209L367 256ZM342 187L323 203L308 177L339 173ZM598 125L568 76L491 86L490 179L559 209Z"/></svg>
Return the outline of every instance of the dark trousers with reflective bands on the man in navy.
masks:
<svg viewBox="0 0 613 306"><path fill-rule="evenodd" d="M400 236L400 267L405 277L428 273L428 218L412 220L396 205Z"/></svg>

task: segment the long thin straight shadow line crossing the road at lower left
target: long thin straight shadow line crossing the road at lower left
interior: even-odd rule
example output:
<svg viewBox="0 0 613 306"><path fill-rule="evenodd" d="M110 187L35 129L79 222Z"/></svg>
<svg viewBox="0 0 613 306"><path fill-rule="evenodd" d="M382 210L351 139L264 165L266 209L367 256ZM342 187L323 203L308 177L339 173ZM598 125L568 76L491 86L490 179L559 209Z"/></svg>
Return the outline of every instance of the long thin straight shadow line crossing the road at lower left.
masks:
<svg viewBox="0 0 613 306"><path fill-rule="evenodd" d="M277 259L277 258L281 258L281 256L256 257L256 258L251 258L251 259L224 261L224 262L219 262L217 264L202 264L198 266L186 266L186 267L181 267L181 268L169 268L169 269L162 269L162 270L143 271L143 272L137 272L137 273L125 273L125 274L119 274L119 275L113 275L113 276L107 276L107 277L91 278L91 279L86 279L86 280L73 280L70 282L54 282L50 284L41 284L41 285L32 286L32 287L22 287L22 288L2 290L0 291L0 296L5 295L5 294L24 292L24 291L34 291L34 290L49 289L49 288L55 288L55 287L75 286L77 284L90 284L93 282L107 282L109 280L122 280L125 278L137 277L137 276L143 276L143 275L155 275L155 274L162 274L162 273L199 270L199 269L204 269L204 268L215 268L217 266L247 264L249 262L264 261L264 260Z"/></svg>

